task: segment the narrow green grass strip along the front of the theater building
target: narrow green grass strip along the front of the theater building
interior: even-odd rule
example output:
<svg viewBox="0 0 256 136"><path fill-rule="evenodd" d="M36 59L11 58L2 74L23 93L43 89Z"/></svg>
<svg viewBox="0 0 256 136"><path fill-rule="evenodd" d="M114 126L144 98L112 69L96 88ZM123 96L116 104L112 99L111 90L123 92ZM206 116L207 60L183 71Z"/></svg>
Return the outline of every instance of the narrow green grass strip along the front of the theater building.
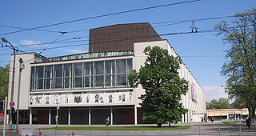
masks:
<svg viewBox="0 0 256 136"><path fill-rule="evenodd" d="M186 130L191 126L127 126L127 127L119 127L119 126L61 126L61 127L49 127L42 128L41 130Z"/></svg>

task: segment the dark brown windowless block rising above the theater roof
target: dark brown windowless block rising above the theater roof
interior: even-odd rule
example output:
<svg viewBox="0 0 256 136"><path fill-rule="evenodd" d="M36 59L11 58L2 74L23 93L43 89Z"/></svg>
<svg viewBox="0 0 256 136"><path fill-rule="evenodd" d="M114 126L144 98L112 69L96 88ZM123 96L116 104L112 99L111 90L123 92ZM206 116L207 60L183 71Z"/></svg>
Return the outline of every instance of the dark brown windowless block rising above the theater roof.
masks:
<svg viewBox="0 0 256 136"><path fill-rule="evenodd" d="M162 38L150 23L132 23L90 29L89 52L134 50L134 42L159 41Z"/></svg>

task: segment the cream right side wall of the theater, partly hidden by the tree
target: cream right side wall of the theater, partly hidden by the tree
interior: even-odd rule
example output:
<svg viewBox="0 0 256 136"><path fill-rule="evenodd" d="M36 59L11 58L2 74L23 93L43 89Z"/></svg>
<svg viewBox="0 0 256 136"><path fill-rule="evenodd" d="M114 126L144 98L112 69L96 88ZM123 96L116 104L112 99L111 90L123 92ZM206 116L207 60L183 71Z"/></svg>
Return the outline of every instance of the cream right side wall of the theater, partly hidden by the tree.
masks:
<svg viewBox="0 0 256 136"><path fill-rule="evenodd" d="M160 46L163 49L168 50L169 54L177 56L174 49L170 46L169 42L166 40L156 41L156 42L139 42L134 43L134 69L139 70L141 66L144 65L146 61L146 55L143 54L143 50L146 46ZM181 64L181 68L179 70L180 78L185 78L186 81L189 82L189 90L186 95L182 95L182 106L184 106L188 113L185 114L186 122L198 122L197 120L193 120L193 114L206 114L206 94L205 91L202 90L202 87L195 80L194 76L190 73L190 70L187 69L185 64ZM192 83L194 84L194 90L197 91L197 98L192 97ZM142 86L138 86L138 88L134 89L134 92L137 96L144 94L144 90ZM139 107L139 102L141 100L137 99L136 106ZM184 118L182 118L182 122L184 122Z"/></svg>

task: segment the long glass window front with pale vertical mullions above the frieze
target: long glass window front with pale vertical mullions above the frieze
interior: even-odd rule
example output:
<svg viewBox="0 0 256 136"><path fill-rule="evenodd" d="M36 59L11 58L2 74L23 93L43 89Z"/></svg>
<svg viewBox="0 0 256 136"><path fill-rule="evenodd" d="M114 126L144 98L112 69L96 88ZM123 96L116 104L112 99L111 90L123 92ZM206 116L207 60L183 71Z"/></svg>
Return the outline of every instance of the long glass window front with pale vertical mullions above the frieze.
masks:
<svg viewBox="0 0 256 136"><path fill-rule="evenodd" d="M128 87L132 59L31 67L30 90Z"/></svg>

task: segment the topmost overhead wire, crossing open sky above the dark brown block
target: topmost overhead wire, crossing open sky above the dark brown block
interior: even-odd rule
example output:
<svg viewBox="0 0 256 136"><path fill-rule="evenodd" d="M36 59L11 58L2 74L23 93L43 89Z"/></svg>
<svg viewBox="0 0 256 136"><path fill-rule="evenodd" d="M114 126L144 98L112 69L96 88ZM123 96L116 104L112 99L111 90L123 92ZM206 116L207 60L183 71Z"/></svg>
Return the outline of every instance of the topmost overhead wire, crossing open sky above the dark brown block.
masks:
<svg viewBox="0 0 256 136"><path fill-rule="evenodd" d="M155 9L155 8L160 8L160 7L165 7L165 6L181 5L181 4L186 4L186 3L190 3L190 2L199 2L199 1L202 1L202 0L176 2L176 3L170 3L170 4L160 5L160 6L150 6L150 7L144 7L144 8L139 8L139 9L135 9L135 10L126 10L126 11L121 11L121 12L115 12L115 13L112 13L112 14L102 14L102 15L97 15L97 16L89 17L89 18L75 19L75 20L71 20L71 21L67 21L67 22L58 22L58 23L54 23L54 24L50 24L50 25L46 25L46 26L37 26L37 27L25 29L25 30L12 31L12 32L3 33L3 34L0 34L0 35L14 34L14 33L19 33L19 32L24 32L24 31L27 31L27 30L36 30L36 29L41 29L41 28L50 27L50 26L58 26L58 25L67 24L67 23L71 23L71 22L81 22L81 21L84 21L84 20L89 20L89 19L94 19L94 18L103 18L103 17L117 15L117 14L126 14L126 13L136 12L136 11L140 11L140 10L150 10L150 9Z"/></svg>

